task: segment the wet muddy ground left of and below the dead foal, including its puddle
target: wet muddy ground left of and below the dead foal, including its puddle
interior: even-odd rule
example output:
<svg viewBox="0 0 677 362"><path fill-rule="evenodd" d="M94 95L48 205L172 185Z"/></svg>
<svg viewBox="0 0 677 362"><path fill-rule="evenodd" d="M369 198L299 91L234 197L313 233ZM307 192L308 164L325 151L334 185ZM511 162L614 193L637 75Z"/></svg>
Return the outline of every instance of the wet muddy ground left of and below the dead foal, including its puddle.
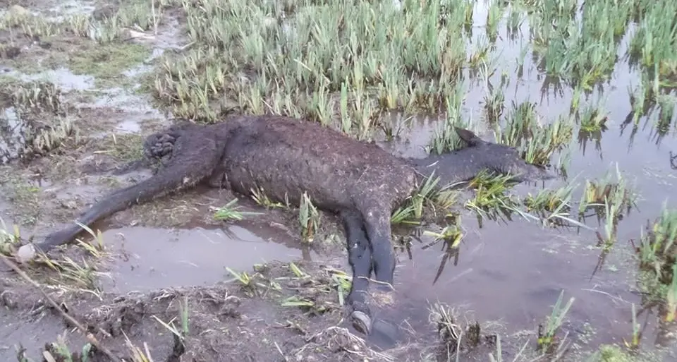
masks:
<svg viewBox="0 0 677 362"><path fill-rule="evenodd" d="M8 9L4 15L92 11L100 16L116 11L114 3L2 5ZM169 125L166 115L134 88L141 86L135 75L148 71L145 63L176 42L173 23L150 42L132 39L108 49L97 49L95 42L74 35L30 38L0 32L4 44L0 79L6 86L1 102L10 130L6 133L11 138L13 126L37 118L47 119L47 126L54 126L56 119L69 125L53 150L6 154L0 172L4 196L0 208L6 225L20 226L25 238L44 237L104 193L150 176L148 169L122 175L115 171L140 157L144 135ZM29 110L20 113L22 101L13 95L24 86L26 94L35 91L53 96L55 102L29 104ZM21 145L6 140L3 146L18 150ZM129 358L130 341L150 346L154 361L350 361L356 356L391 360L367 347L343 323L338 284L331 277L346 270L346 253L332 217L323 217L322 242L300 248L295 212L257 210L255 203L241 200L240 205L262 215L238 224L214 221L210 207L234 197L228 191L197 188L119 212L94 225L104 231L104 248L96 256L77 246L49 253L51 260L71 258L82 269L57 272L43 265L30 270L30 277L44 283L50 298L115 356ZM177 247L168 248L168 243ZM308 260L319 254L322 260ZM303 275L293 274L283 263L291 260ZM258 265L255 271L252 265ZM233 279L224 266L249 272L252 285L224 282ZM37 361L43 347L65 361L47 346L52 342L63 341L71 351L82 351L87 341L80 331L35 287L6 265L0 270L4 361ZM288 301L289 297L295 299ZM293 304L301 297L315 305ZM290 306L282 306L286 300ZM176 339L160 321L180 326L184 301L189 331L185 339ZM94 361L109 360L101 351L93 356Z"/></svg>

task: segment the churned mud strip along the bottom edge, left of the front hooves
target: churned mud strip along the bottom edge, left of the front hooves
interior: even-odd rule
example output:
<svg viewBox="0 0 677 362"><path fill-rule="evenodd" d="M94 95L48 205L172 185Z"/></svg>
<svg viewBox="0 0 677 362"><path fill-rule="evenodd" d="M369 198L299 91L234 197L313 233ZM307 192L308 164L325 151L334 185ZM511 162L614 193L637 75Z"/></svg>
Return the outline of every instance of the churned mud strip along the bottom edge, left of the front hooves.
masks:
<svg viewBox="0 0 677 362"><path fill-rule="evenodd" d="M126 361L138 361L132 344L141 351L147 348L154 361L391 360L393 356L379 355L343 323L331 265L295 265L303 272L300 277L287 263L270 263L250 272L248 285L223 282L123 295L49 287L44 291L106 352ZM0 293L3 320L9 321L4 329L12 330L3 331L4 348L20 342L29 346L35 341L22 335L47 337L49 331L58 333L51 336L54 342L65 342L71 351L83 350L83 333L33 286L12 277L4 280ZM293 303L300 298L314 305ZM51 354L58 351L48 349ZM35 356L35 351L26 353ZM94 347L87 361L109 357Z"/></svg>

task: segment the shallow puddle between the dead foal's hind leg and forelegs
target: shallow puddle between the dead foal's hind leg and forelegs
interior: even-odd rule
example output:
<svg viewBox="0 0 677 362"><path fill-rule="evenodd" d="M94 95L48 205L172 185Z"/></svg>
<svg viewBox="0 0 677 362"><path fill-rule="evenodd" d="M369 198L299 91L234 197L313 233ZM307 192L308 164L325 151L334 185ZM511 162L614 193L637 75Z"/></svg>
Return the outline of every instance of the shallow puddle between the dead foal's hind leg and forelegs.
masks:
<svg viewBox="0 0 677 362"><path fill-rule="evenodd" d="M103 233L116 260L104 290L126 293L169 286L213 284L249 271L271 260L291 261L317 257L302 251L295 241L274 227L248 224L221 229L154 229L125 227Z"/></svg>

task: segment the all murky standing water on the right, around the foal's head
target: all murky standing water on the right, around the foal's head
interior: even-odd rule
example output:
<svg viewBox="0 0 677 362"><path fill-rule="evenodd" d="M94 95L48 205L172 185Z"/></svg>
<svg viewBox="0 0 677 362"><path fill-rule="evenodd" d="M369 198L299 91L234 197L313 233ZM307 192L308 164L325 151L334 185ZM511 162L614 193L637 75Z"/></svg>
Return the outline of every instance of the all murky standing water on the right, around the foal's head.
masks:
<svg viewBox="0 0 677 362"><path fill-rule="evenodd" d="M476 19L486 18L482 6L475 10L479 10ZM527 34L525 25L522 30ZM508 37L502 32L499 39ZM573 91L568 88L544 91L544 77L535 70L530 55L525 59L523 78L514 76L521 45L520 40L499 40L496 49L496 54L501 54L501 61L496 76L491 78L492 83L499 84L503 72L513 75L504 90L506 107L512 101L535 102L544 121L554 121L560 114L568 114ZM619 53L622 52L625 52L624 47ZM564 290L565 302L575 297L568 314L569 330L585 332L585 324L589 323L595 331L592 342L622 343L623 337L627 339L632 333L631 303L640 309L640 298L632 292L635 266L630 259L628 241L640 236L640 228L647 219L653 220L659 215L664 202L671 207L677 205L675 198L670 197L673 184L677 182L677 171L671 169L669 162L669 152L677 151L673 132L657 143L652 121L643 127L645 119L642 119L634 139L630 138L632 125L621 133L621 123L631 110L628 87L634 88L638 84L637 74L627 64L617 64L602 92L596 90L588 99L581 99L581 104L594 104L601 99L609 111L609 129L602 134L601 147L597 149L594 141L588 141L585 146L578 144L576 128L570 147L569 181L578 175L579 186L583 186L586 178L602 178L606 171L615 171L617 163L623 177L640 193L639 210L633 210L618 225L616 247L601 270L592 275L599 254L599 249L594 247L597 242L594 231L544 229L537 222L527 222L518 216L516 221L507 223L485 220L480 228L474 215L466 213L463 218L466 236L458 265L454 266L453 259L449 260L437 283L433 284L433 280L444 255L441 245L424 250L422 245L432 241L424 236L422 243L414 243L411 260L406 254L400 255L396 274L398 305L394 310L384 311L385 318L406 319L415 330L425 332L430 330L425 306L440 301L451 306L465 306L479 320L500 320L507 325L508 332L535 331L538 323L544 322L551 313L551 306L560 291ZM467 116L472 114L472 118L477 119L483 97L482 86L470 85L465 99ZM418 132L432 135L427 123L414 125L421 127ZM401 155L419 157L419 150L425 144L414 143L423 139L415 136L409 143L394 148ZM555 155L552 161L556 162L557 157ZM556 188L564 183L563 180L551 181L545 187ZM516 188L520 194L537 190L530 185ZM574 200L579 197L580 189ZM604 234L596 219L588 220L587 224ZM655 318L649 318L646 345L654 343L656 338L652 330L654 321Z"/></svg>

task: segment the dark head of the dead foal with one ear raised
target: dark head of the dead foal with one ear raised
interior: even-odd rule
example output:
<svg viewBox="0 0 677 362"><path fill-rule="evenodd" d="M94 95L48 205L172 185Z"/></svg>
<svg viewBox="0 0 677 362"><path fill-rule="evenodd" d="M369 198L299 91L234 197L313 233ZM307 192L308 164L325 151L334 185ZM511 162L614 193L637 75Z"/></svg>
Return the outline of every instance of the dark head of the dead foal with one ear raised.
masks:
<svg viewBox="0 0 677 362"><path fill-rule="evenodd" d="M527 163L515 148L500 143L482 140L479 136L464 128L456 127L456 133L468 143L463 149L472 152L472 158L479 161L484 169L499 174L510 174L515 181L536 181L553 179L555 176L543 167ZM461 150L461 151L463 151Z"/></svg>

